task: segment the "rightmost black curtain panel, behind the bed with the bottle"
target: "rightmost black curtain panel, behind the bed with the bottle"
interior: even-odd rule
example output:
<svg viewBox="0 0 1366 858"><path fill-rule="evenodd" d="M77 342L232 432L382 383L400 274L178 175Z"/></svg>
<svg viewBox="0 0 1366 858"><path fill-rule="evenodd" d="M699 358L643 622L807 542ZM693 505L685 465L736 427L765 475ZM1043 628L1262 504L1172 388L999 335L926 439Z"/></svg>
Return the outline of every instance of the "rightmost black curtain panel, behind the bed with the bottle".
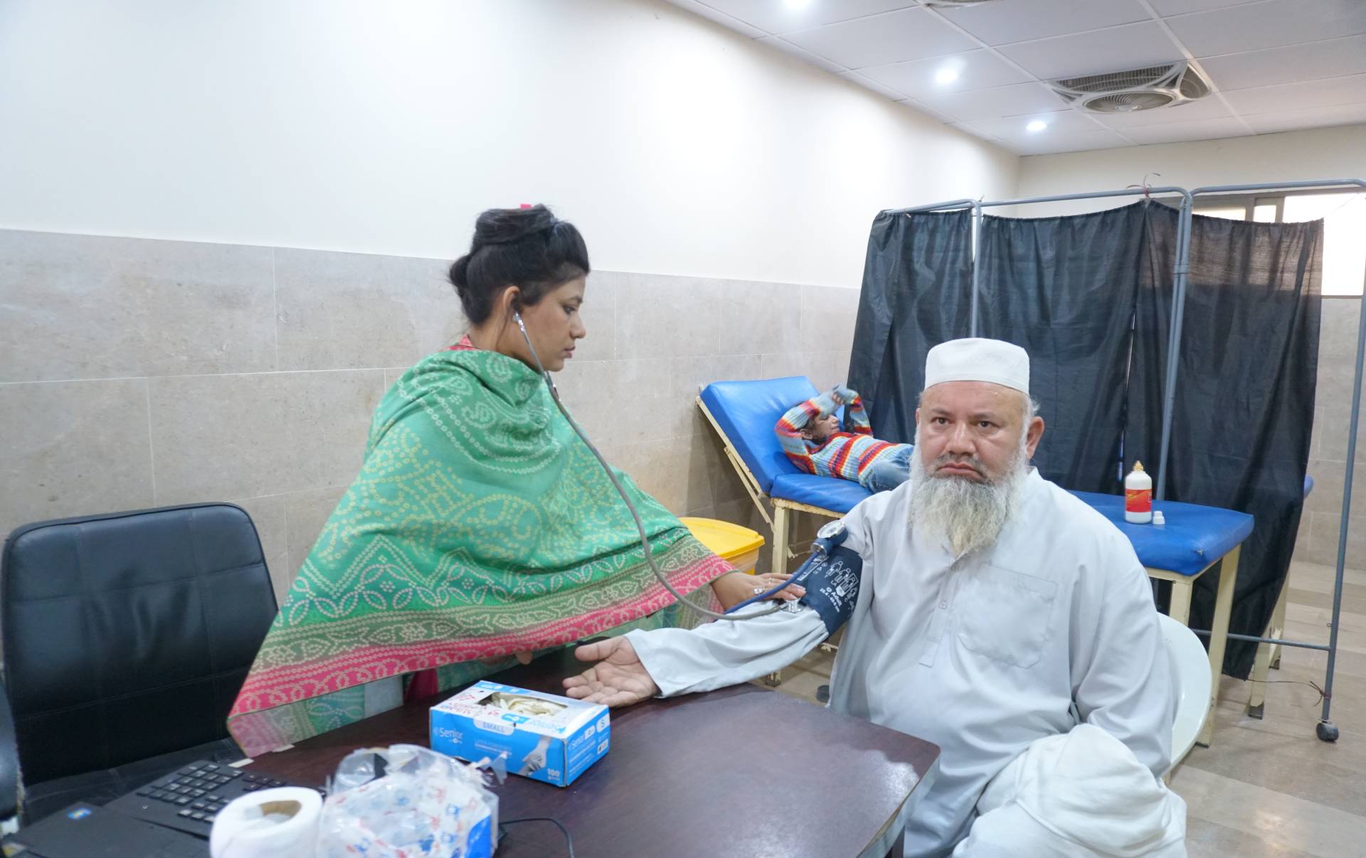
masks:
<svg viewBox="0 0 1366 858"><path fill-rule="evenodd" d="M1149 210L1126 458L1161 442L1177 213ZM1172 411L1167 498L1251 513L1229 632L1259 636L1285 581L1309 464L1318 371L1322 221L1255 224L1195 216ZM1216 569L1197 580L1190 625L1209 629ZM1246 678L1257 647L1228 641Z"/></svg>

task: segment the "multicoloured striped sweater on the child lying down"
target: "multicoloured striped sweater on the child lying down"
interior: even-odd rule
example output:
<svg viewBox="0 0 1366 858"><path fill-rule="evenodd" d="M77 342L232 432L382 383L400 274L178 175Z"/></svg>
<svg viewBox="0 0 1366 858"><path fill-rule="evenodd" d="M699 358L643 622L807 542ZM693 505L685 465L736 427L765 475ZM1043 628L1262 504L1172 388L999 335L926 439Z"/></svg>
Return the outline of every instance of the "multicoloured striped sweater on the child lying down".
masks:
<svg viewBox="0 0 1366 858"><path fill-rule="evenodd" d="M844 431L831 434L824 443L802 438L802 430L811 420L829 416L837 408L829 393L790 408L773 431L783 452L802 471L858 483L874 461L900 445L873 438L863 398L852 390L847 393L852 396L846 397Z"/></svg>

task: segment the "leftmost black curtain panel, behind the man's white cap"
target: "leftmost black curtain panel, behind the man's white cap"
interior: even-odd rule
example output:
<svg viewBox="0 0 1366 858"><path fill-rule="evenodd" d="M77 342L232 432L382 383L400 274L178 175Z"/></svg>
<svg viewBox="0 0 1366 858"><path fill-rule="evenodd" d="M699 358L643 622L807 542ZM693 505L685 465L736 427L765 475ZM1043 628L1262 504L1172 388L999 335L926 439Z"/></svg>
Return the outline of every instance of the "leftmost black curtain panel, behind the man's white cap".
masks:
<svg viewBox="0 0 1366 858"><path fill-rule="evenodd" d="M863 396L878 438L914 441L925 353L970 333L971 270L970 211L873 220L848 385Z"/></svg>

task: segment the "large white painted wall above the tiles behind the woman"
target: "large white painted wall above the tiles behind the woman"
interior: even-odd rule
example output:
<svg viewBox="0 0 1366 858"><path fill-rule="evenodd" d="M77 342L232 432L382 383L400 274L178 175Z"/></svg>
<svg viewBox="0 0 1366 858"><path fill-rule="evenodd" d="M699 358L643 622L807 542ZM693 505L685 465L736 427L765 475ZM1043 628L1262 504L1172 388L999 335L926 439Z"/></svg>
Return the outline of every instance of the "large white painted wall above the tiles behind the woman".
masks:
<svg viewBox="0 0 1366 858"><path fill-rule="evenodd" d="M856 285L884 207L1019 160L656 0L7 0L0 226Z"/></svg>

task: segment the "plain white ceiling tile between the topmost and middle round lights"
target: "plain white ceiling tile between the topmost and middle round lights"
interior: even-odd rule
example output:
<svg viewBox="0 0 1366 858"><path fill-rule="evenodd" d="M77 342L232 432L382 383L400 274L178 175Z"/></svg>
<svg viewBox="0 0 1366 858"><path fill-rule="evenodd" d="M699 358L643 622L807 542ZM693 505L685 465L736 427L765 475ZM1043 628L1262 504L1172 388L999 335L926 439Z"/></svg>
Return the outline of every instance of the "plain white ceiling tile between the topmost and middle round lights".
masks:
<svg viewBox="0 0 1366 858"><path fill-rule="evenodd" d="M784 38L850 68L959 53L978 45L923 8L872 15Z"/></svg>

